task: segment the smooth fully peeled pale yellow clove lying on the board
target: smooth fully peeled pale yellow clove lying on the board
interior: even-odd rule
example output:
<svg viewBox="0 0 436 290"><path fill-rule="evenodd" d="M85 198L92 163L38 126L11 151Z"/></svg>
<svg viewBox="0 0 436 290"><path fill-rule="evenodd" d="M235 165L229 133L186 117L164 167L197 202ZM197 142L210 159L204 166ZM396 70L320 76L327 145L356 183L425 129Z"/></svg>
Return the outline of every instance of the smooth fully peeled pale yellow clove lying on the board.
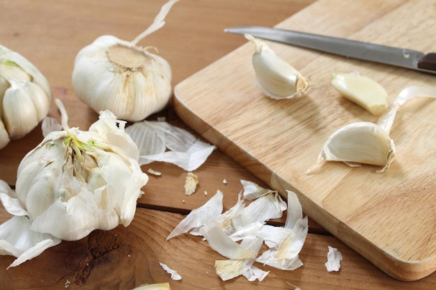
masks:
<svg viewBox="0 0 436 290"><path fill-rule="evenodd" d="M365 108L373 115L381 115L389 108L389 97L386 90L367 76L335 73L332 76L332 85L344 97Z"/></svg>

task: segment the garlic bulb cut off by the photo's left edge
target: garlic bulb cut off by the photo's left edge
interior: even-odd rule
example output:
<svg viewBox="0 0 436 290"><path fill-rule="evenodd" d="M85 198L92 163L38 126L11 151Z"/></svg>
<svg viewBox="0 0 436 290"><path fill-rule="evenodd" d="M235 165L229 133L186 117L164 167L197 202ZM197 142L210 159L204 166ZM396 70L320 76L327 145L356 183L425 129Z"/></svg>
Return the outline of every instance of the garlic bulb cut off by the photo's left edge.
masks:
<svg viewBox="0 0 436 290"><path fill-rule="evenodd" d="M24 56L0 45L0 149L34 129L51 104L45 76Z"/></svg>

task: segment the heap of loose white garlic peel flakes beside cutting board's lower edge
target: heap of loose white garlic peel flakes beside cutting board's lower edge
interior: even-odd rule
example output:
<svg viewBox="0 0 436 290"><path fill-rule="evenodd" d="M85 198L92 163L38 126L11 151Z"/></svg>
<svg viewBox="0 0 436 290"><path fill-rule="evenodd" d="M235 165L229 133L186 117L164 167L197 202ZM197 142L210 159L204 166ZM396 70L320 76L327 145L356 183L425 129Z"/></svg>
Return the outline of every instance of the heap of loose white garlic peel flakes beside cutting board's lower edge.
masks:
<svg viewBox="0 0 436 290"><path fill-rule="evenodd" d="M255 261L288 271L302 266L298 255L309 226L297 195L287 191L286 205L277 191L246 180L241 183L244 200L253 200L249 206L245 207L240 193L238 202L222 213L223 193L217 191L203 206L192 210L166 239L187 232L203 236L212 249L228 258L215 261L216 273L224 281L239 275L249 281L262 281L269 271L254 266ZM280 218L285 210L288 215L283 227L265 224L271 218ZM269 250L258 255L263 243Z"/></svg>

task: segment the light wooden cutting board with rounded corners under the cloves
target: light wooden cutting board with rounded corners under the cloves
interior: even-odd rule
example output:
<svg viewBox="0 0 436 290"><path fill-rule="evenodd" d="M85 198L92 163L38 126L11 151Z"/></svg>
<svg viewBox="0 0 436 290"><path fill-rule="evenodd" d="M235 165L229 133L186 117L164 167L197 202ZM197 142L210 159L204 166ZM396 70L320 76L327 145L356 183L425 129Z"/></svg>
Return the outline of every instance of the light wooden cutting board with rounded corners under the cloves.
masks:
<svg viewBox="0 0 436 290"><path fill-rule="evenodd" d="M435 15L436 1L320 0L277 27L429 52L436 51ZM236 36L223 33L222 41L229 37ZM396 158L388 172L341 162L325 163L311 175L306 170L336 129L377 122L334 90L333 72L369 76L392 98L407 86L436 89L436 76L267 44L311 80L307 95L265 97L254 84L254 47L247 42L179 83L176 113L272 188L296 191L306 214L385 273L406 281L433 273L435 99L412 99L398 111L391 129Z"/></svg>

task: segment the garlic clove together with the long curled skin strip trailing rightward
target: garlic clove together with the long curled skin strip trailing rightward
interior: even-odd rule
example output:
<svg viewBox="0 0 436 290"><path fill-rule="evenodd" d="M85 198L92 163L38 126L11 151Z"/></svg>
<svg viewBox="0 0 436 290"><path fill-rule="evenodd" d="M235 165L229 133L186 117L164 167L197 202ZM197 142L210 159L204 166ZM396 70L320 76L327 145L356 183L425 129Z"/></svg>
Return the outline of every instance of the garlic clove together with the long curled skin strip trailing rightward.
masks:
<svg viewBox="0 0 436 290"><path fill-rule="evenodd" d="M318 170L325 161L342 161L353 167L361 166L362 163L382 166L377 172L389 170L396 151L394 140L389 137L396 112L399 106L414 97L436 98L436 91L420 86L404 88L377 124L355 122L336 130L322 146L316 163L306 173Z"/></svg>

